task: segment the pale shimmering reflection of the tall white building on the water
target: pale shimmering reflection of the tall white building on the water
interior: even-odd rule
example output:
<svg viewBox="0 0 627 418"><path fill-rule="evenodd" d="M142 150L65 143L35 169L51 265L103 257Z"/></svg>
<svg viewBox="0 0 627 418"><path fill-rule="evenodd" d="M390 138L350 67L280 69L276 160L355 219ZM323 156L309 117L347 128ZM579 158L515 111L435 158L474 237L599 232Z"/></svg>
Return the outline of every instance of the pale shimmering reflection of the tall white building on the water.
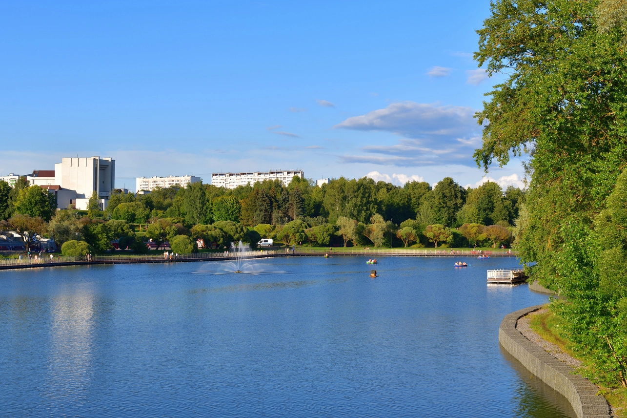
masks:
<svg viewBox="0 0 627 418"><path fill-rule="evenodd" d="M66 289L50 301L50 351L48 382L50 398L82 397L90 380L93 362L93 315L95 296L91 289Z"/></svg>

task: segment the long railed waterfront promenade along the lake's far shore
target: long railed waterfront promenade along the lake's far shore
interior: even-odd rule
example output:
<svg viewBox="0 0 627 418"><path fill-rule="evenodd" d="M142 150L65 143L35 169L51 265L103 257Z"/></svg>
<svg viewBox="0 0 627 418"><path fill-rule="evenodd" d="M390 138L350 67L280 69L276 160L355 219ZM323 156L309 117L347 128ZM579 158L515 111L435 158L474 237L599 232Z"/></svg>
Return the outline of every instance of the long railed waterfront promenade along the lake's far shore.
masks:
<svg viewBox="0 0 627 418"><path fill-rule="evenodd" d="M28 269L36 267L55 267L62 265L95 265L95 264L143 264L143 263L169 263L169 262L189 262L189 261L228 261L235 259L263 259L271 257L322 257L329 254L330 257L361 255L364 257L476 257L478 252L473 250L451 250L447 249L352 249L344 247L334 247L333 249L325 249L320 247L298 247L292 252L292 249L278 250L250 250L243 252L214 252L214 253L194 253L179 254L166 256L159 254L111 254L111 255L92 255L91 260L85 257L68 257L64 255L56 255L51 259L50 254L44 254L41 257L31 257L28 259L1 259L0 270L11 269ZM508 250L490 250L483 251L483 255L490 257L515 257L517 252Z"/></svg>

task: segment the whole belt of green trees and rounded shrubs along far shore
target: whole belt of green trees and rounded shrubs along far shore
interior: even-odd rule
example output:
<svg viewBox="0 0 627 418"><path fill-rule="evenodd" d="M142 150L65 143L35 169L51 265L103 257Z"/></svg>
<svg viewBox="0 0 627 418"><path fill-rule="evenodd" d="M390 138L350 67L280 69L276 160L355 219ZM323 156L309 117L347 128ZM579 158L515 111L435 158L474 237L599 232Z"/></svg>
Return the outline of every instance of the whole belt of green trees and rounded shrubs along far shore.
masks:
<svg viewBox="0 0 627 418"><path fill-rule="evenodd" d="M280 180L234 189L192 183L137 195L112 191L104 211L94 193L87 213L56 211L48 191L23 179L13 189L0 182L0 191L1 227L21 233L26 249L36 235L53 237L62 248L71 242L67 254L105 252L116 240L135 252L145 251L145 240L157 248L168 241L182 253L195 250L198 239L214 247L239 240L254 247L261 238L283 245L496 247L510 244L524 207L518 188L503 191L490 181L463 188L452 178L435 187L344 177L318 187L297 176L288 186Z"/></svg>

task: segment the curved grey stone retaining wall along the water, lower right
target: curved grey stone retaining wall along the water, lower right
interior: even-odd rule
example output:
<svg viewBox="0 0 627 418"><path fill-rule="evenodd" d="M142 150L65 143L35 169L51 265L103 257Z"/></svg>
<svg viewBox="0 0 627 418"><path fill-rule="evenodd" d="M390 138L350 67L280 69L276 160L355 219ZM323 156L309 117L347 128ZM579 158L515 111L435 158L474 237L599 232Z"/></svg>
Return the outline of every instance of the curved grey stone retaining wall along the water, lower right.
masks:
<svg viewBox="0 0 627 418"><path fill-rule="evenodd" d="M542 347L527 340L516 329L519 318L540 308L542 305L531 306L505 316L498 330L498 341L530 372L564 395L571 402L577 417L610 418L608 402L602 396L596 395L598 389L593 383L580 375L572 375L572 368L566 363L560 362Z"/></svg>

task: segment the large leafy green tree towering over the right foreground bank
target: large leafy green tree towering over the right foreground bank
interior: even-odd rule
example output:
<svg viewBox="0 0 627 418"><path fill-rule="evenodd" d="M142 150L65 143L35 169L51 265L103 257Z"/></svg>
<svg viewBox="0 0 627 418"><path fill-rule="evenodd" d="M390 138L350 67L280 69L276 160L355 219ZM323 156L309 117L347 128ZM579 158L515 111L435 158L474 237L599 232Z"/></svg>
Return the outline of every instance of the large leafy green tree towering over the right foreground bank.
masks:
<svg viewBox="0 0 627 418"><path fill-rule="evenodd" d="M552 308L588 359L584 374L607 385L627 385L619 360L627 303L601 284L603 269L624 259L620 249L591 249L620 230L602 225L616 222L609 196L627 161L626 20L614 13L621 10L624 2L613 0L493 1L475 53L488 75L508 74L477 114L483 144L475 158L487 169L532 151L520 257L537 262L532 277L567 300Z"/></svg>

